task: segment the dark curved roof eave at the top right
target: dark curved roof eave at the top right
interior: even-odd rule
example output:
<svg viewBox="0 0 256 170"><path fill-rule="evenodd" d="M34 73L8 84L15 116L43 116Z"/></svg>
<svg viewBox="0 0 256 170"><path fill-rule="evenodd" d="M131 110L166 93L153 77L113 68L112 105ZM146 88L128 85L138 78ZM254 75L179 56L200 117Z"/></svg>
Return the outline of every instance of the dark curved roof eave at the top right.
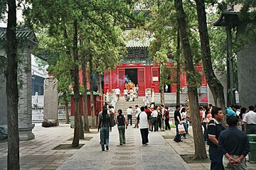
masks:
<svg viewBox="0 0 256 170"><path fill-rule="evenodd" d="M238 12L223 11L223 13L221 13L221 16L218 19L218 21L213 23L213 26L235 27L235 26L238 26L239 22L240 21L238 18Z"/></svg>

